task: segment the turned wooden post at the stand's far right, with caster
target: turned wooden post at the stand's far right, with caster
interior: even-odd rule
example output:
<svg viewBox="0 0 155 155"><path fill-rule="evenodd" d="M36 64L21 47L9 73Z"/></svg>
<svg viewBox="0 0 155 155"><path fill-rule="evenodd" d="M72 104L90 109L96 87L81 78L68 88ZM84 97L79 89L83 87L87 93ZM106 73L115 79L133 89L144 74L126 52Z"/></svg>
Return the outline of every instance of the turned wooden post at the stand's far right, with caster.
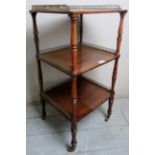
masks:
<svg viewBox="0 0 155 155"><path fill-rule="evenodd" d="M113 69L113 76L112 76L112 85L111 85L111 90L113 92L113 95L109 99L109 107L108 107L108 114L106 121L110 118L112 114L112 106L114 102L114 92L115 92L115 84L116 84L116 79L117 79L117 72L118 72L118 61L120 58L120 48L121 48L121 42L122 42L122 34L123 34L123 23L124 23L124 17L127 12L121 12L120 13L120 23L119 23L119 28L118 28L118 36L117 36L117 45L116 45L116 55L118 56L115 60L114 64L114 69Z"/></svg>

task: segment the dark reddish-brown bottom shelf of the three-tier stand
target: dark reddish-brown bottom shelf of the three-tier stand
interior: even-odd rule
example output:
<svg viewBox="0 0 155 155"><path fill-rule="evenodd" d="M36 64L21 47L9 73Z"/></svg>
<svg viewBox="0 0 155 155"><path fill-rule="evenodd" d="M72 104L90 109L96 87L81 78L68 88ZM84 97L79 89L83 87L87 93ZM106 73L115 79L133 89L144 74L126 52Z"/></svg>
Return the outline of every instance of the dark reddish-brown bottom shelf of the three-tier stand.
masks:
<svg viewBox="0 0 155 155"><path fill-rule="evenodd" d="M77 120L108 100L112 92L86 78L78 78ZM69 120L72 117L71 80L45 91L42 96L64 114Z"/></svg>

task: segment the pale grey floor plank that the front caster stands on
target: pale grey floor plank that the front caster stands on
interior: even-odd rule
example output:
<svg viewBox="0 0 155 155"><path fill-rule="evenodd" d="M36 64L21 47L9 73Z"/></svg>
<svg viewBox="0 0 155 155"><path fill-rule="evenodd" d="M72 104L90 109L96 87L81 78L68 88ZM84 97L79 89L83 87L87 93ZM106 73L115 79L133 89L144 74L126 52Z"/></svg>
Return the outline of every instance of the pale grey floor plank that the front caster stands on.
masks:
<svg viewBox="0 0 155 155"><path fill-rule="evenodd" d="M93 151L110 148L128 147L128 128L100 128L78 132L79 151ZM53 133L27 137L27 155L65 154L70 132Z"/></svg>

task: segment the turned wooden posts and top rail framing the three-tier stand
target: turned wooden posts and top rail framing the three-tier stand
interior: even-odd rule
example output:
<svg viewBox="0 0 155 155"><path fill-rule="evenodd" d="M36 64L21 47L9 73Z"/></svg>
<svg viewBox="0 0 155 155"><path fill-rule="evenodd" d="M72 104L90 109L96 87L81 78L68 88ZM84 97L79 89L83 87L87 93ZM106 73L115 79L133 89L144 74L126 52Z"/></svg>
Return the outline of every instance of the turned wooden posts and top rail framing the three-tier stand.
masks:
<svg viewBox="0 0 155 155"><path fill-rule="evenodd" d="M121 41L122 41L122 32L123 32L123 22L124 17L126 14L126 10L120 10L120 11L94 11L89 13L119 13L120 14L120 23L119 23L119 29L118 29L118 37L117 37L117 47L116 47L116 59L113 69L113 76L112 76L112 85L111 85L111 91L115 92L115 83L117 79L117 70L118 70L118 61L120 57L120 47L121 47ZM37 12L30 11L32 15L33 20L33 33L34 33L34 43L36 48L36 59L37 59L37 66L38 66L38 79L39 79L39 86L40 86L40 100L42 103L42 119L46 118L46 110L45 110L45 101L46 98L44 97L44 88L43 88L43 76L42 76L42 68L41 68L41 62L39 59L39 37L38 37L38 28L36 23L36 15ZM56 12L53 12L56 13ZM58 12L59 13L59 12ZM61 12L62 13L62 12ZM66 12L65 12L66 13ZM72 133L72 140L71 140L71 146L68 148L68 151L74 151L77 145L76 140L76 134L77 134L77 118L76 118L76 109L77 109L77 78L79 75L76 75L77 70L77 52L78 52L78 42L81 45L83 42L83 14L88 12L69 12L68 15L71 19L71 60L72 60L72 87L71 87L71 97L72 97L72 119L71 119L71 133ZM79 41L77 39L77 25L79 20ZM108 114L106 117L106 121L110 118L112 114L112 105L114 102L114 93L112 93L111 97L109 98L109 108L108 108Z"/></svg>

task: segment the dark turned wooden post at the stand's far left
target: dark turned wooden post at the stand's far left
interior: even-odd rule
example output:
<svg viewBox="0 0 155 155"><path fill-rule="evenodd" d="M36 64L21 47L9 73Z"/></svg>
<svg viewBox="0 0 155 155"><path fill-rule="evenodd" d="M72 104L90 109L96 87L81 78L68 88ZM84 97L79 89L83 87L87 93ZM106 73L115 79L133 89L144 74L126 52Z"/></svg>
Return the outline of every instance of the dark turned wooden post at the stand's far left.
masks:
<svg viewBox="0 0 155 155"><path fill-rule="evenodd" d="M38 59L39 55L39 37L38 37L38 27L37 27L37 22L36 22L36 12L30 11L31 16L32 16L32 21L33 21L33 35L34 35L34 44L35 44L35 49L36 49L36 60L37 60L37 68L38 68L38 80L39 80L39 87L40 87L40 101L42 103L42 119L46 118L46 110L45 110L45 100L41 96L43 92L43 77L42 77L42 68L41 68L41 63Z"/></svg>

